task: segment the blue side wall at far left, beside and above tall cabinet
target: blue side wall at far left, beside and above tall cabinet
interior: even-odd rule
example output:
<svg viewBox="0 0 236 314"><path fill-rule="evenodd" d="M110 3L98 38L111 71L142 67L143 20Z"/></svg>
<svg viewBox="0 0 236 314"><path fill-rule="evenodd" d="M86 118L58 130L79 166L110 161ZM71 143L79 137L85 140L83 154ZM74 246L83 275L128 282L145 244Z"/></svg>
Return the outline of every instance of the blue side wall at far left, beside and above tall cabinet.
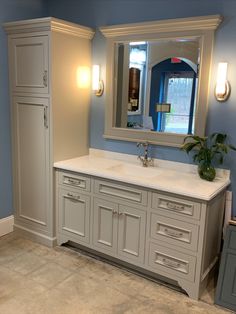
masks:
<svg viewBox="0 0 236 314"><path fill-rule="evenodd" d="M0 23L42 16L42 0L1 0ZM7 37L0 28L0 218L12 214Z"/></svg>

